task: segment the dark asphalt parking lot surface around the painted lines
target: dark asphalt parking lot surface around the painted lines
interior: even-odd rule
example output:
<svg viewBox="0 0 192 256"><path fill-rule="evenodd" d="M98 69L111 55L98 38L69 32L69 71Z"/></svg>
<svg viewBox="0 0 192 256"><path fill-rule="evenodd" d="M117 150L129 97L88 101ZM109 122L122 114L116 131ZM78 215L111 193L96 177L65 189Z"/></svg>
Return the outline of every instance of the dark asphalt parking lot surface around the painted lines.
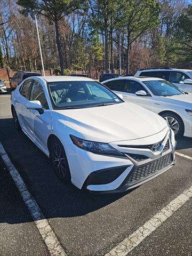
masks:
<svg viewBox="0 0 192 256"><path fill-rule="evenodd" d="M14 129L9 94L0 95L0 117L0 142L66 255L107 254L191 188L190 138L178 140L177 163L169 171L125 194L92 195L61 183L49 158ZM49 255L1 158L0 166L0 255ZM192 198L178 208L128 255L192 255ZM110 253L125 254L120 247Z"/></svg>

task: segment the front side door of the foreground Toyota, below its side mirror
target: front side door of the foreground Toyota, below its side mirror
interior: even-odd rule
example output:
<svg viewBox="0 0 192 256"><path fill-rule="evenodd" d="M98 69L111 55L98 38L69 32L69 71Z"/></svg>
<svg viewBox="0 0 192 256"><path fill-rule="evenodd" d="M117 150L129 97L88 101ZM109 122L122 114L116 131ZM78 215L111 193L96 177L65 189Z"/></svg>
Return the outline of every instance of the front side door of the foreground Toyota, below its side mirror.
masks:
<svg viewBox="0 0 192 256"><path fill-rule="evenodd" d="M25 109L25 118L30 131L30 136L40 147L46 147L47 126L51 123L51 116L43 86L34 80L31 86L29 100L39 100L42 104L44 113L39 114L37 110Z"/></svg>

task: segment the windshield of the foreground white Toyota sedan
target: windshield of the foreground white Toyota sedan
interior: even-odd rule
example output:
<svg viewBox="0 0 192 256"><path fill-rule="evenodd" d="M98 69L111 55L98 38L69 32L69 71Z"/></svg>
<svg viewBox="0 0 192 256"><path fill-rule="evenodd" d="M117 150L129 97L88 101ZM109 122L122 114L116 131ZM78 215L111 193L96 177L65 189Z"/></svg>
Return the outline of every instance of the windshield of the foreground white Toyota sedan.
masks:
<svg viewBox="0 0 192 256"><path fill-rule="evenodd" d="M123 102L94 81L49 82L47 85L54 109L90 108Z"/></svg>

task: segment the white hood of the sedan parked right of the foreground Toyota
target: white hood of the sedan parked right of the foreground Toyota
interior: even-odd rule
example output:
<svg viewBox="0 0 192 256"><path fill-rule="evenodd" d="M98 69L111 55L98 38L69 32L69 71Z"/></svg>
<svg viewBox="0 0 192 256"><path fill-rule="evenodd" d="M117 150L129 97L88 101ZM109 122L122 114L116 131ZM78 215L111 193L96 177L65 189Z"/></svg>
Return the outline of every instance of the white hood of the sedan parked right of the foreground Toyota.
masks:
<svg viewBox="0 0 192 256"><path fill-rule="evenodd" d="M170 102L183 107L190 107L191 109L192 93L161 97L161 101Z"/></svg>

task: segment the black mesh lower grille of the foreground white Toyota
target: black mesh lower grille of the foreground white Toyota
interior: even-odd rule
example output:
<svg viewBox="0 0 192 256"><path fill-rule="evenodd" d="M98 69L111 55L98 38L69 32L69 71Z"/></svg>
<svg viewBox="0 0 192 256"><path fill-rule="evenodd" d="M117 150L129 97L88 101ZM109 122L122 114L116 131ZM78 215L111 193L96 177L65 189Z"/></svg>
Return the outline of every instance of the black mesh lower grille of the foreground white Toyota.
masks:
<svg viewBox="0 0 192 256"><path fill-rule="evenodd" d="M156 160L152 163L138 167L137 169L135 169L132 172L129 180L127 180L126 183L135 182L139 179L146 177L147 175L150 175L151 173L157 172L157 171L163 169L163 167L171 164L172 161L173 161L173 155L172 155L172 153L170 153L170 154L167 154L167 155L159 158L158 160Z"/></svg>

